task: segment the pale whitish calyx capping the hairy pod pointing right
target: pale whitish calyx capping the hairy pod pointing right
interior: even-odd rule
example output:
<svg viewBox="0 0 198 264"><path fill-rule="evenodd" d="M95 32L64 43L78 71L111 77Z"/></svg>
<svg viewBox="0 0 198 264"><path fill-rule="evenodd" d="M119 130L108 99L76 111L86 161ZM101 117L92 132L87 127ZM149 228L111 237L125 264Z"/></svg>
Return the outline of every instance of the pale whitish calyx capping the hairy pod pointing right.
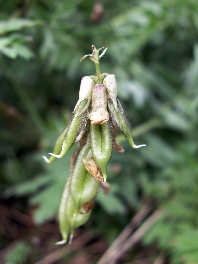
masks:
<svg viewBox="0 0 198 264"><path fill-rule="evenodd" d="M113 101L114 107L117 111L117 82L114 74L107 74L102 82L107 89L107 98Z"/></svg>

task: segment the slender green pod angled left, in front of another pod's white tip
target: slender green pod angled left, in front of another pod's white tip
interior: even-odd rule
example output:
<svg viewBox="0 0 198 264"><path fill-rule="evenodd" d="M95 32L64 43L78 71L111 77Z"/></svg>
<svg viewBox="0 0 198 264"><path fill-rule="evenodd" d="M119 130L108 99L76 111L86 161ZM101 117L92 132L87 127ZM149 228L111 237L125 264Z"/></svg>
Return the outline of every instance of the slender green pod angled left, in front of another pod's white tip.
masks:
<svg viewBox="0 0 198 264"><path fill-rule="evenodd" d="M76 139L76 136L81 130L81 127L86 122L87 112L84 110L87 110L88 106L88 99L84 99L82 102L79 103L78 107L76 108L76 111L73 114L67 133L63 140L62 150L60 154L57 155L55 153L49 153L50 155L56 158L62 158L67 153L68 149L71 147L74 140Z"/></svg>

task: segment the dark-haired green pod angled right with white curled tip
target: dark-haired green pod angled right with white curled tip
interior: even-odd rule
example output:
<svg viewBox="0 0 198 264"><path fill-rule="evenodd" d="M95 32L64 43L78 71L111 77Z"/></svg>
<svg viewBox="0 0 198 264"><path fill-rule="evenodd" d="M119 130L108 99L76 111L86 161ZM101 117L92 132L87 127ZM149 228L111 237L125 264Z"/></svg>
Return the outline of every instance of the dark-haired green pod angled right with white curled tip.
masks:
<svg viewBox="0 0 198 264"><path fill-rule="evenodd" d="M143 147L145 145L139 145L136 146L135 143L133 142L133 137L132 137L132 130L130 127L130 123L126 117L126 114L122 108L122 105L119 101L119 99L117 98L117 109L118 109L118 114L115 115L115 107L114 104L112 102L112 100L109 100L109 112L110 112L110 116L114 122L114 124L119 128L119 130L124 134L125 138L128 140L129 144L131 145L131 147L133 148L140 148Z"/></svg>

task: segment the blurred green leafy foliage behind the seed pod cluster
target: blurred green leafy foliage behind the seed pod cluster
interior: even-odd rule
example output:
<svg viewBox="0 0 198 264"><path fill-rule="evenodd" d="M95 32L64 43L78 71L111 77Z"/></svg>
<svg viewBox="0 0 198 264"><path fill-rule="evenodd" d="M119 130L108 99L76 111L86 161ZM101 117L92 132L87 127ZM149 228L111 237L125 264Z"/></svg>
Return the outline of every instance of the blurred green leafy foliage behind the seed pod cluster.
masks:
<svg viewBox="0 0 198 264"><path fill-rule="evenodd" d="M110 244L150 200L164 213L142 243L156 241L170 263L198 263L198 3L102 1L96 22L94 5L0 1L1 198L39 205L35 223L57 217L72 149L52 164L41 156L67 124L81 78L95 73L88 58L79 60L108 39L101 72L116 75L134 141L147 147L131 149L118 136L125 152L114 153L107 169L111 192L97 195L87 227ZM7 261L26 263L31 249L18 243L23 259L15 248L9 256L16 259Z"/></svg>

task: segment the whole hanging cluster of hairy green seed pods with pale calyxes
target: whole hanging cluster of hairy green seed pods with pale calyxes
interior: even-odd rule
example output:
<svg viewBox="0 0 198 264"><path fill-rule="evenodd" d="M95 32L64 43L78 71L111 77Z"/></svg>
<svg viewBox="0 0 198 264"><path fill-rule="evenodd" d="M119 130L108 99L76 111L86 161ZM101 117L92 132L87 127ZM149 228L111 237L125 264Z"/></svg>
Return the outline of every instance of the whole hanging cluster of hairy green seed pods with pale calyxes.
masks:
<svg viewBox="0 0 198 264"><path fill-rule="evenodd" d="M92 46L94 56L97 55ZM99 57L98 62L99 62ZM96 63L96 62L95 62ZM96 68L97 69L97 68ZM74 231L89 218L93 208L93 199L106 182L106 165L114 149L124 150L115 137L118 128L133 148L132 130L126 114L117 96L117 83L114 74L103 73L96 76L84 76L81 80L79 100L72 118L54 145L50 163L63 157L74 142L77 148L71 157L70 176L65 185L59 207L59 226L63 240L57 244L72 241Z"/></svg>

